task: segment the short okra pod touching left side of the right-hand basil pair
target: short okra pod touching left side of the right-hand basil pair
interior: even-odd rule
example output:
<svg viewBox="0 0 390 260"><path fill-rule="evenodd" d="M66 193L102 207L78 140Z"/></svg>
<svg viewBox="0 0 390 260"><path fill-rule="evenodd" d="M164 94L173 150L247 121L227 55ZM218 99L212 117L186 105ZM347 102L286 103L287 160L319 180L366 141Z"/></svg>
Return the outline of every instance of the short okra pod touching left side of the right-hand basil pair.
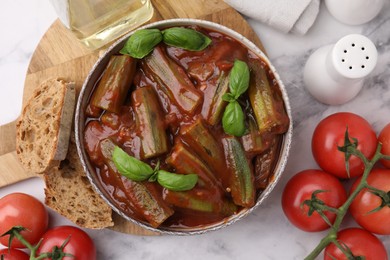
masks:
<svg viewBox="0 0 390 260"><path fill-rule="evenodd" d="M229 74L222 71L215 86L206 88L205 99L202 108L202 115L210 125L216 125L221 122L223 111L227 102L222 96L229 91Z"/></svg>

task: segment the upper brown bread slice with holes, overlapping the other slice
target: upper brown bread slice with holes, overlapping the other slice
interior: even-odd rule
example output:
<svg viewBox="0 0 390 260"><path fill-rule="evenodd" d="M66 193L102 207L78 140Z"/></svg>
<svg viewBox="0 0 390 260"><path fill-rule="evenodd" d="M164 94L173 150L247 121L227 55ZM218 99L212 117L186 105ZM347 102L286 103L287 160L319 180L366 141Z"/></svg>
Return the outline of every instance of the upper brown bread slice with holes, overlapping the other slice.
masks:
<svg viewBox="0 0 390 260"><path fill-rule="evenodd" d="M16 153L26 170L43 173L65 159L75 103L74 83L62 79L33 93L16 125Z"/></svg>

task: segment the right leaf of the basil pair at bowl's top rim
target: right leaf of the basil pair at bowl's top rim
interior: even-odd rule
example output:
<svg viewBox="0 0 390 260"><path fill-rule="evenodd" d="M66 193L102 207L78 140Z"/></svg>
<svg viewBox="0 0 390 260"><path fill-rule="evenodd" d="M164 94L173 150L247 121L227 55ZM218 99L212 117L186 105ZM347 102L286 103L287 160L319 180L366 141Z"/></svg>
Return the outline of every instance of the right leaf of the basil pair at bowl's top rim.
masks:
<svg viewBox="0 0 390 260"><path fill-rule="evenodd" d="M163 41L167 45L190 51L201 51L211 43L206 35L193 29L172 27L162 31Z"/></svg>

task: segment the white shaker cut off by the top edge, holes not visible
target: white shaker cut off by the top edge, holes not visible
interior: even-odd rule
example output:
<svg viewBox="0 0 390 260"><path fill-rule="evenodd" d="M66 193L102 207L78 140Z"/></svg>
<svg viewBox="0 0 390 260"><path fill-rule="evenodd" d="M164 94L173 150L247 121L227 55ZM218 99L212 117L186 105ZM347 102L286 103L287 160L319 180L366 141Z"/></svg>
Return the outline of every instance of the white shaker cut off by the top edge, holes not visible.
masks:
<svg viewBox="0 0 390 260"><path fill-rule="evenodd" d="M333 17L349 25L371 21L381 11L383 4L384 0L325 0Z"/></svg>

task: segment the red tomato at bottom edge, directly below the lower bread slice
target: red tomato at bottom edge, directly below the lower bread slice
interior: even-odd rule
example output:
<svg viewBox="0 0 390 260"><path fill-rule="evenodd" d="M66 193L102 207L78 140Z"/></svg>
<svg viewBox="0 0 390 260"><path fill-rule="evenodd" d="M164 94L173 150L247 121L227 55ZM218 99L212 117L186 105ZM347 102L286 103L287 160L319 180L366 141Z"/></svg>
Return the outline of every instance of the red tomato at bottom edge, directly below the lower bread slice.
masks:
<svg viewBox="0 0 390 260"><path fill-rule="evenodd" d="M64 257L63 260L95 260L96 247L89 235L80 228L73 226L59 226L48 230L42 237L42 243L37 255L51 252L53 247L61 247L66 241L64 252L73 257ZM45 258L48 260L47 258Z"/></svg>

